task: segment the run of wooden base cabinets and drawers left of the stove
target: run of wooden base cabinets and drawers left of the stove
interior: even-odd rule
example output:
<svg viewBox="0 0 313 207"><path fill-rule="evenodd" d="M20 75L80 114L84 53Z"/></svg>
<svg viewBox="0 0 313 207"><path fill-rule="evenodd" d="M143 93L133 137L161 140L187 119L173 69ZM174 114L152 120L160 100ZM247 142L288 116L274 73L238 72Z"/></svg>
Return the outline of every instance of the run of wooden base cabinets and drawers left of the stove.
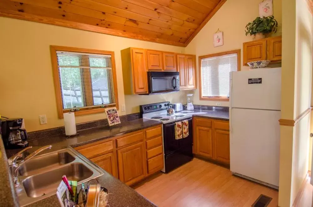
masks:
<svg viewBox="0 0 313 207"><path fill-rule="evenodd" d="M162 125L75 148L127 185L163 169Z"/></svg>

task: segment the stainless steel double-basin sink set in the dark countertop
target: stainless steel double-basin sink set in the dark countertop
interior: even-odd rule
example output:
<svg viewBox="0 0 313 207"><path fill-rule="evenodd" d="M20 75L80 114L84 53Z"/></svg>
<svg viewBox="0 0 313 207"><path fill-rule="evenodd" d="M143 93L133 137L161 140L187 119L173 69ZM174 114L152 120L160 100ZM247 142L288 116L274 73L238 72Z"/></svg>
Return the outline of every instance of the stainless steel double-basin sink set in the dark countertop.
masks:
<svg viewBox="0 0 313 207"><path fill-rule="evenodd" d="M66 148L33 157L19 168L18 174L21 185L15 190L19 204L24 206L56 194L63 175L81 184L103 172L74 149Z"/></svg>

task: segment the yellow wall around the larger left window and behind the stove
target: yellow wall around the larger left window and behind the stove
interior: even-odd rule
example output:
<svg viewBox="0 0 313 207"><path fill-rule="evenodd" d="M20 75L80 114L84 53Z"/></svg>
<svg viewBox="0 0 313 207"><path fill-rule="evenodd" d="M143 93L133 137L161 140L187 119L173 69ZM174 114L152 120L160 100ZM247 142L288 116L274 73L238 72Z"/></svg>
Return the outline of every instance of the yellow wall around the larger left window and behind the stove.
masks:
<svg viewBox="0 0 313 207"><path fill-rule="evenodd" d="M50 45L90 48L115 52L118 80L118 99L126 105L126 112L139 112L139 105L164 100L186 102L185 92L165 95L124 95L121 68L121 50L128 47L150 48L183 52L182 47L121 38L100 33L0 18L0 114L25 119L28 131L63 126L58 119L54 81L50 58ZM39 124L39 115L46 114L48 124ZM105 114L76 117L76 123L105 119Z"/></svg>

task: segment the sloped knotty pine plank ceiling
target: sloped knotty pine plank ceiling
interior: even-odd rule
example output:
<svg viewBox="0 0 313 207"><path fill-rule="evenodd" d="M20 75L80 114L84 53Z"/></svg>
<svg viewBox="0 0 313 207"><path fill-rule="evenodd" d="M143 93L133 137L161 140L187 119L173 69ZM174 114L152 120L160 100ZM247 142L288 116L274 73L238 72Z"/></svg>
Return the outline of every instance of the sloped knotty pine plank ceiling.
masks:
<svg viewBox="0 0 313 207"><path fill-rule="evenodd" d="M0 0L0 16L187 46L226 0Z"/></svg>

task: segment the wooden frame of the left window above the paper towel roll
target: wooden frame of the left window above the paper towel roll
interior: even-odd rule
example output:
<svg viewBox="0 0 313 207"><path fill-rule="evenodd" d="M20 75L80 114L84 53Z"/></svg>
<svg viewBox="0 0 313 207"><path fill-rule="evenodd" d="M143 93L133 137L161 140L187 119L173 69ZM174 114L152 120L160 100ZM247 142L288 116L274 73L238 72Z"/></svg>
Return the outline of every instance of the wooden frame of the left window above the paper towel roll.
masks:
<svg viewBox="0 0 313 207"><path fill-rule="evenodd" d="M63 118L63 113L67 113L71 109L63 109L61 85L60 85L60 80L59 80L57 51L111 55L115 104L104 105L104 107L103 107L103 105L100 105L100 106L90 106L90 107L87 106L84 108L80 108L79 111L75 111L75 116L101 113L101 112L104 112L104 108L107 108L107 107L114 107L115 106L117 110L119 109L114 52L104 51L104 50L94 50L94 49L84 49L84 48L73 48L73 47L63 47L63 46L50 45L55 95L56 95L56 102L57 102L57 108L58 108L58 115L59 115L60 119ZM88 81L88 80L85 80L85 81ZM87 93L87 96L90 96L90 94L88 95L88 93Z"/></svg>

